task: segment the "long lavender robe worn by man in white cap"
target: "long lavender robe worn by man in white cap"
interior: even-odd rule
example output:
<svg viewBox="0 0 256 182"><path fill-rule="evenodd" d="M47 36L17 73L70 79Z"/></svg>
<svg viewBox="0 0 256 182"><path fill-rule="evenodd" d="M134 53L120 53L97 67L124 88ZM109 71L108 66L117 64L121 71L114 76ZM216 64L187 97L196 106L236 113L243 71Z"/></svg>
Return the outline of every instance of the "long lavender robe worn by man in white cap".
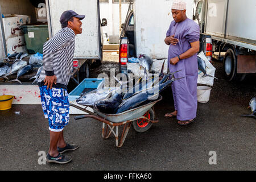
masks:
<svg viewBox="0 0 256 182"><path fill-rule="evenodd" d="M177 110L177 119L187 121L196 118L197 110L197 53L187 59L180 60L176 65L170 64L170 59L181 55L191 48L192 42L200 38L199 25L191 19L185 19L183 22L171 22L166 36L175 35L179 39L176 46L170 44L168 52L168 68L174 74L175 78L182 78L172 82L172 93L174 96L174 106Z"/></svg>

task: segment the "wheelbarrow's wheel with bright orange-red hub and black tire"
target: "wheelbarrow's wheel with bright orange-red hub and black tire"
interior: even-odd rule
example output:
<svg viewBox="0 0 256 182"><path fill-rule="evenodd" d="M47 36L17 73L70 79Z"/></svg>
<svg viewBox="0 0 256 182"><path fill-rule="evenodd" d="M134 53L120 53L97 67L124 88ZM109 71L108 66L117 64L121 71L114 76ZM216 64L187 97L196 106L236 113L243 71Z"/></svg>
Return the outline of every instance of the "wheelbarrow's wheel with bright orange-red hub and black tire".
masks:
<svg viewBox="0 0 256 182"><path fill-rule="evenodd" d="M150 120L155 119L155 113L154 110L150 109L143 115L144 117L147 117ZM138 133L143 133L150 129L153 123L146 121L146 119L137 119L133 121L132 125L135 131Z"/></svg>

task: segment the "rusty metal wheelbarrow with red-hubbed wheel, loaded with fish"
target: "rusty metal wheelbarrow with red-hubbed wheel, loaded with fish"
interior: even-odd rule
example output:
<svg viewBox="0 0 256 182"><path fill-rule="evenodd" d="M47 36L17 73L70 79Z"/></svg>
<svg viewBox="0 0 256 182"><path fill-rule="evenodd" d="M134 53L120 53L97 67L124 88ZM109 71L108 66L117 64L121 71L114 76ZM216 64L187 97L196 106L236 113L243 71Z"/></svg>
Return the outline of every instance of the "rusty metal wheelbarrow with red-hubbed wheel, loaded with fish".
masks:
<svg viewBox="0 0 256 182"><path fill-rule="evenodd" d="M115 146L122 147L132 124L135 131L143 133L150 129L152 123L159 122L155 119L154 105L160 100L162 100L162 96L159 95L158 100L118 114L104 114L95 107L92 108L95 113L92 113L91 111L86 110L86 107L83 109L77 105L70 105L88 113L76 116L76 120L82 118L93 118L102 122L102 138L108 139L110 134L113 133L115 136ZM119 126L123 126L120 139Z"/></svg>

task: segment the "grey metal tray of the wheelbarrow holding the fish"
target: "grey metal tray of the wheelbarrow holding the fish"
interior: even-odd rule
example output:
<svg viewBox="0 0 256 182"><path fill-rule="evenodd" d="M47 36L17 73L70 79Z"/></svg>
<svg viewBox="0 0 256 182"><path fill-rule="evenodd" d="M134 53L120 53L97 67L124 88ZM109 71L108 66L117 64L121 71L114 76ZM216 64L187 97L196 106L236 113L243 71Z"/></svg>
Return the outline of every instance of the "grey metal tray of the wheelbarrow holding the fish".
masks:
<svg viewBox="0 0 256 182"><path fill-rule="evenodd" d="M93 108L95 113L97 113L100 117L113 122L113 123L120 123L120 122L125 122L125 121L131 121L137 118L142 117L146 113L146 111L150 110L152 106L156 104L156 102L162 100L162 96L159 95L158 100L155 100L153 102L150 102L146 105L136 107L134 109L130 109L127 111L124 111L122 113L118 114L104 114L101 113L98 109Z"/></svg>

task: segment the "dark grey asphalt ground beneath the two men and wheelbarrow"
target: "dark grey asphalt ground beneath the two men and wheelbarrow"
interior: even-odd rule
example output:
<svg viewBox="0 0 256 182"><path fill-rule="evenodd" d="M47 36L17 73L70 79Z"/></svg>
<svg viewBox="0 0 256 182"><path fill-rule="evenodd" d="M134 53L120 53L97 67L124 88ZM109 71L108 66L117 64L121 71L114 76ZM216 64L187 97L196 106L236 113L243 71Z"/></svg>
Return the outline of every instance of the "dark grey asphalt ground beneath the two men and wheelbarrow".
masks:
<svg viewBox="0 0 256 182"><path fill-rule="evenodd" d="M40 105L13 105L0 111L0 170L255 170L256 120L240 117L250 113L246 107L255 95L255 75L241 83L227 82L222 63L214 61L213 65L219 80L212 86L209 102L198 104L197 118L191 125L179 126L175 118L164 118L174 110L170 88L154 106L159 122L145 133L131 128L121 148L115 147L113 135L101 137L101 122L91 118L75 121L71 115L64 137L80 147L66 153L73 160L65 165L42 164L40 157L48 152L49 130ZM105 60L101 67L92 69L91 77L102 71L109 73L109 68L118 68L118 63Z"/></svg>

